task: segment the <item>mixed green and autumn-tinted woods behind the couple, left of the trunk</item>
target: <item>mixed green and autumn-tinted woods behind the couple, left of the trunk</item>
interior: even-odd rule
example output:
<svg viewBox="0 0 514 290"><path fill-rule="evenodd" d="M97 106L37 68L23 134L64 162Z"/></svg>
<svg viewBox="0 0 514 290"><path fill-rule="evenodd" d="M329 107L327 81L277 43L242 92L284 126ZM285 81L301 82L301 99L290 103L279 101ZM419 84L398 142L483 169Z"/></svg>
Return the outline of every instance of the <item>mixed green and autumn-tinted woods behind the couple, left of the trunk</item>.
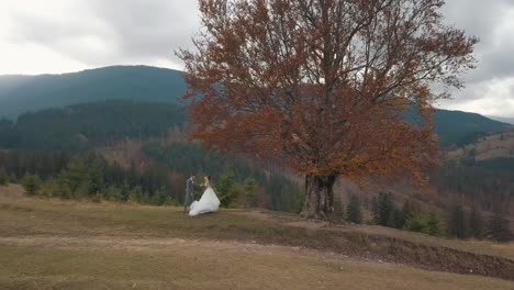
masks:
<svg viewBox="0 0 514 290"><path fill-rule="evenodd" d="M147 144L144 154L143 166L131 163L124 168L91 152L0 152L0 179L21 183L33 196L178 205L183 202L186 179L191 174L212 172L223 207L297 213L301 209L303 199L294 181L283 175L268 176L244 159L205 152L191 143L172 143L164 148ZM202 191L197 187L198 198Z"/></svg>

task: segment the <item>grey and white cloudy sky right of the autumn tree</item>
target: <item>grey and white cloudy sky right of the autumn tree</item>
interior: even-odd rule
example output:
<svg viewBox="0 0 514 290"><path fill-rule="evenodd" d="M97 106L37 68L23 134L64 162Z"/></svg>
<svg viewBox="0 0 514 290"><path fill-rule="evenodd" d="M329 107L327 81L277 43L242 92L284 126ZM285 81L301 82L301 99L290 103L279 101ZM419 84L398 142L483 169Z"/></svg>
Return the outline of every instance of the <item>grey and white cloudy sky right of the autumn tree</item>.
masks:
<svg viewBox="0 0 514 290"><path fill-rule="evenodd" d="M514 116L514 1L451 0L445 13L449 22L480 38L479 63L466 77L467 88L452 91L452 100L439 107Z"/></svg>

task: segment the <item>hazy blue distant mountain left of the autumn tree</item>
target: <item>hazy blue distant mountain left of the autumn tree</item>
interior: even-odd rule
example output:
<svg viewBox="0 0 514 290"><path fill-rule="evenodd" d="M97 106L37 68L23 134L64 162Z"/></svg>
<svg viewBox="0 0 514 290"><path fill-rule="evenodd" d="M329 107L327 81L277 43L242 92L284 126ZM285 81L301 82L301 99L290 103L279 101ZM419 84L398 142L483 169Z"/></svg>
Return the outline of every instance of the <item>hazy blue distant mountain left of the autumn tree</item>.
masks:
<svg viewBox="0 0 514 290"><path fill-rule="evenodd" d="M63 75L0 76L0 116L99 100L175 102L186 91L182 72L113 66Z"/></svg>

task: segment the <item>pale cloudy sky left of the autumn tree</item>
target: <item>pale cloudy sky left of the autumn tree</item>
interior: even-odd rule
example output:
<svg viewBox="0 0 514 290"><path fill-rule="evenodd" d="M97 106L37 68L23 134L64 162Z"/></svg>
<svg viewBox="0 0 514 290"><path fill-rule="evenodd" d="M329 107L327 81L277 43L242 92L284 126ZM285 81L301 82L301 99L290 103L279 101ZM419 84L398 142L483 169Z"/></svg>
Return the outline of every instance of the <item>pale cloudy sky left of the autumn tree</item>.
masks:
<svg viewBox="0 0 514 290"><path fill-rule="evenodd" d="M198 26L193 0L3 0L0 74L181 68L174 52L191 45Z"/></svg>

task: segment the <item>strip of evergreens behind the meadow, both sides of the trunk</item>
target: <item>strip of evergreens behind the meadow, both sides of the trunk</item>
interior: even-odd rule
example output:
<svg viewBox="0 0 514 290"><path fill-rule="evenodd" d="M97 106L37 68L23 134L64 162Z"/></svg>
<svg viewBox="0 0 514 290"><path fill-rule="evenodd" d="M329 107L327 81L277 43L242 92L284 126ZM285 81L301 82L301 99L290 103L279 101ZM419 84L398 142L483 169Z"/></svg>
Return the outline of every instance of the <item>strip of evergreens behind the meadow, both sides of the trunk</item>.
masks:
<svg viewBox="0 0 514 290"><path fill-rule="evenodd" d="M169 178L165 172L169 169L172 172L185 174L201 164L201 159L203 159L204 163L209 164L204 170L219 172L215 176L216 183L214 186L222 207L260 207L293 213L300 212L302 196L298 194L300 192L298 186L294 186L287 178L277 176L267 178L259 169L252 168L244 163L232 163L236 167L230 167L227 165L233 159L223 158L212 153L203 158L200 158L201 154L189 153L198 158L186 160L179 154L183 148L201 152L200 148L186 144L174 144L165 155L153 153L156 154L155 158L168 159L172 166L168 168L150 167L143 174L133 166L130 169L123 169L118 165L110 165L99 155L78 155L72 158L62 155L22 155L24 158L21 160L7 155L9 168L16 168L20 172L25 174L20 180L18 180L15 171L10 177L5 170L2 170L0 176L3 176L5 181L20 182L25 192L31 196L94 202L180 205L183 202L185 178L181 175L171 175L172 178ZM48 164L56 164L57 160L60 160L63 165L60 168L54 167L54 172L52 172L52 166L44 167L45 171L43 172L47 176L42 180L38 175L29 174L34 169L30 165L36 164L40 156L48 156ZM180 165L183 165L182 169L180 169ZM244 178L245 176L247 177ZM199 176L199 180L201 179L202 177ZM200 198L202 190L201 187L197 187L197 199ZM262 190L271 193L264 193ZM399 207L393 196L386 192L381 192L371 203L371 217L366 217L359 197L351 196L346 209L339 210L339 213L334 215L333 221L346 220L355 224L376 224L449 238L489 238L509 242L514 237L510 230L509 219L500 213L484 219L480 210L476 208L467 210L461 204L450 205L446 212L436 213L435 208L423 207L412 200L406 200L403 205Z"/></svg>

